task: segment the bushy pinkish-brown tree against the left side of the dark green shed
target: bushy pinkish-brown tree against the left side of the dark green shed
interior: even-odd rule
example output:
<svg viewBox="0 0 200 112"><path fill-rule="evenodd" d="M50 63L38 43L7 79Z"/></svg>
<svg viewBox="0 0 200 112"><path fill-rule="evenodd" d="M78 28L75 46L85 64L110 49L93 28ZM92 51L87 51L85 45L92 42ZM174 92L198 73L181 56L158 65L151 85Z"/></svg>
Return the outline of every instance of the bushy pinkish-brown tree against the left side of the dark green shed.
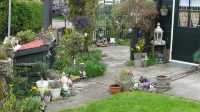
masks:
<svg viewBox="0 0 200 112"><path fill-rule="evenodd" d="M113 8L113 15L129 15L129 26L148 32L155 26L156 4L153 0L125 0Z"/></svg>

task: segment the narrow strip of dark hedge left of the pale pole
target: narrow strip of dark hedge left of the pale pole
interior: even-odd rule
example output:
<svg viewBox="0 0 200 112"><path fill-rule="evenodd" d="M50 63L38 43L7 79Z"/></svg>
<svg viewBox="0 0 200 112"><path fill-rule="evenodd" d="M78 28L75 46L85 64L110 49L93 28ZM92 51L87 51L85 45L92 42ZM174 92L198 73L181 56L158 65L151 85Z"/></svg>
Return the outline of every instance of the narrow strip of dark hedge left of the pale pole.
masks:
<svg viewBox="0 0 200 112"><path fill-rule="evenodd" d="M8 22L8 0L0 1L0 40L6 35L7 22Z"/></svg>

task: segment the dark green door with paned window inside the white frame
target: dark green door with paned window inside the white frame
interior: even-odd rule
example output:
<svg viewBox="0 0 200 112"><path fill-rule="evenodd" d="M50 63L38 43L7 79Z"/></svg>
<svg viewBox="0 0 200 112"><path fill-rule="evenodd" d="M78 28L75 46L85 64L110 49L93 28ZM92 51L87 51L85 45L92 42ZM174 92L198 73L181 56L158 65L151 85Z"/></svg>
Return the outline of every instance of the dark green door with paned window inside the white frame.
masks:
<svg viewBox="0 0 200 112"><path fill-rule="evenodd" d="M200 48L200 0L175 0L172 59L193 63Z"/></svg>

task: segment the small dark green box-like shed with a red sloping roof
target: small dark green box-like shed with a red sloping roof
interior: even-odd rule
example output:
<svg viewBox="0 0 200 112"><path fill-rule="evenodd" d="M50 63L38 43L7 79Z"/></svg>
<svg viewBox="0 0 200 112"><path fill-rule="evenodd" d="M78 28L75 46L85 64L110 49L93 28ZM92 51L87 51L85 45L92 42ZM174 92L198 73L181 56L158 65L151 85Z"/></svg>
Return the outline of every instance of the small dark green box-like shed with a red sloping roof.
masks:
<svg viewBox="0 0 200 112"><path fill-rule="evenodd" d="M45 63L51 67L54 60L55 45L55 40L47 41L44 39L36 39L23 44L15 52L14 63L17 66Z"/></svg>

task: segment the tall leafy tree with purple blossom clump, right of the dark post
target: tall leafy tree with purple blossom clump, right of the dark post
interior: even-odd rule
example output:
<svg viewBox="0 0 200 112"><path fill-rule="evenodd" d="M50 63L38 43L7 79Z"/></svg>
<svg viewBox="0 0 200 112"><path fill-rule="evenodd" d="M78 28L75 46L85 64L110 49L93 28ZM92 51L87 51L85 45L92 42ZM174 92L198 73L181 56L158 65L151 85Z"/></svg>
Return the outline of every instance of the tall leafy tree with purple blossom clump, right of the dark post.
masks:
<svg viewBox="0 0 200 112"><path fill-rule="evenodd" d="M84 37L84 51L88 51L88 46L92 40L95 30L96 8L98 0L68 0L68 18L80 33L87 33Z"/></svg>

